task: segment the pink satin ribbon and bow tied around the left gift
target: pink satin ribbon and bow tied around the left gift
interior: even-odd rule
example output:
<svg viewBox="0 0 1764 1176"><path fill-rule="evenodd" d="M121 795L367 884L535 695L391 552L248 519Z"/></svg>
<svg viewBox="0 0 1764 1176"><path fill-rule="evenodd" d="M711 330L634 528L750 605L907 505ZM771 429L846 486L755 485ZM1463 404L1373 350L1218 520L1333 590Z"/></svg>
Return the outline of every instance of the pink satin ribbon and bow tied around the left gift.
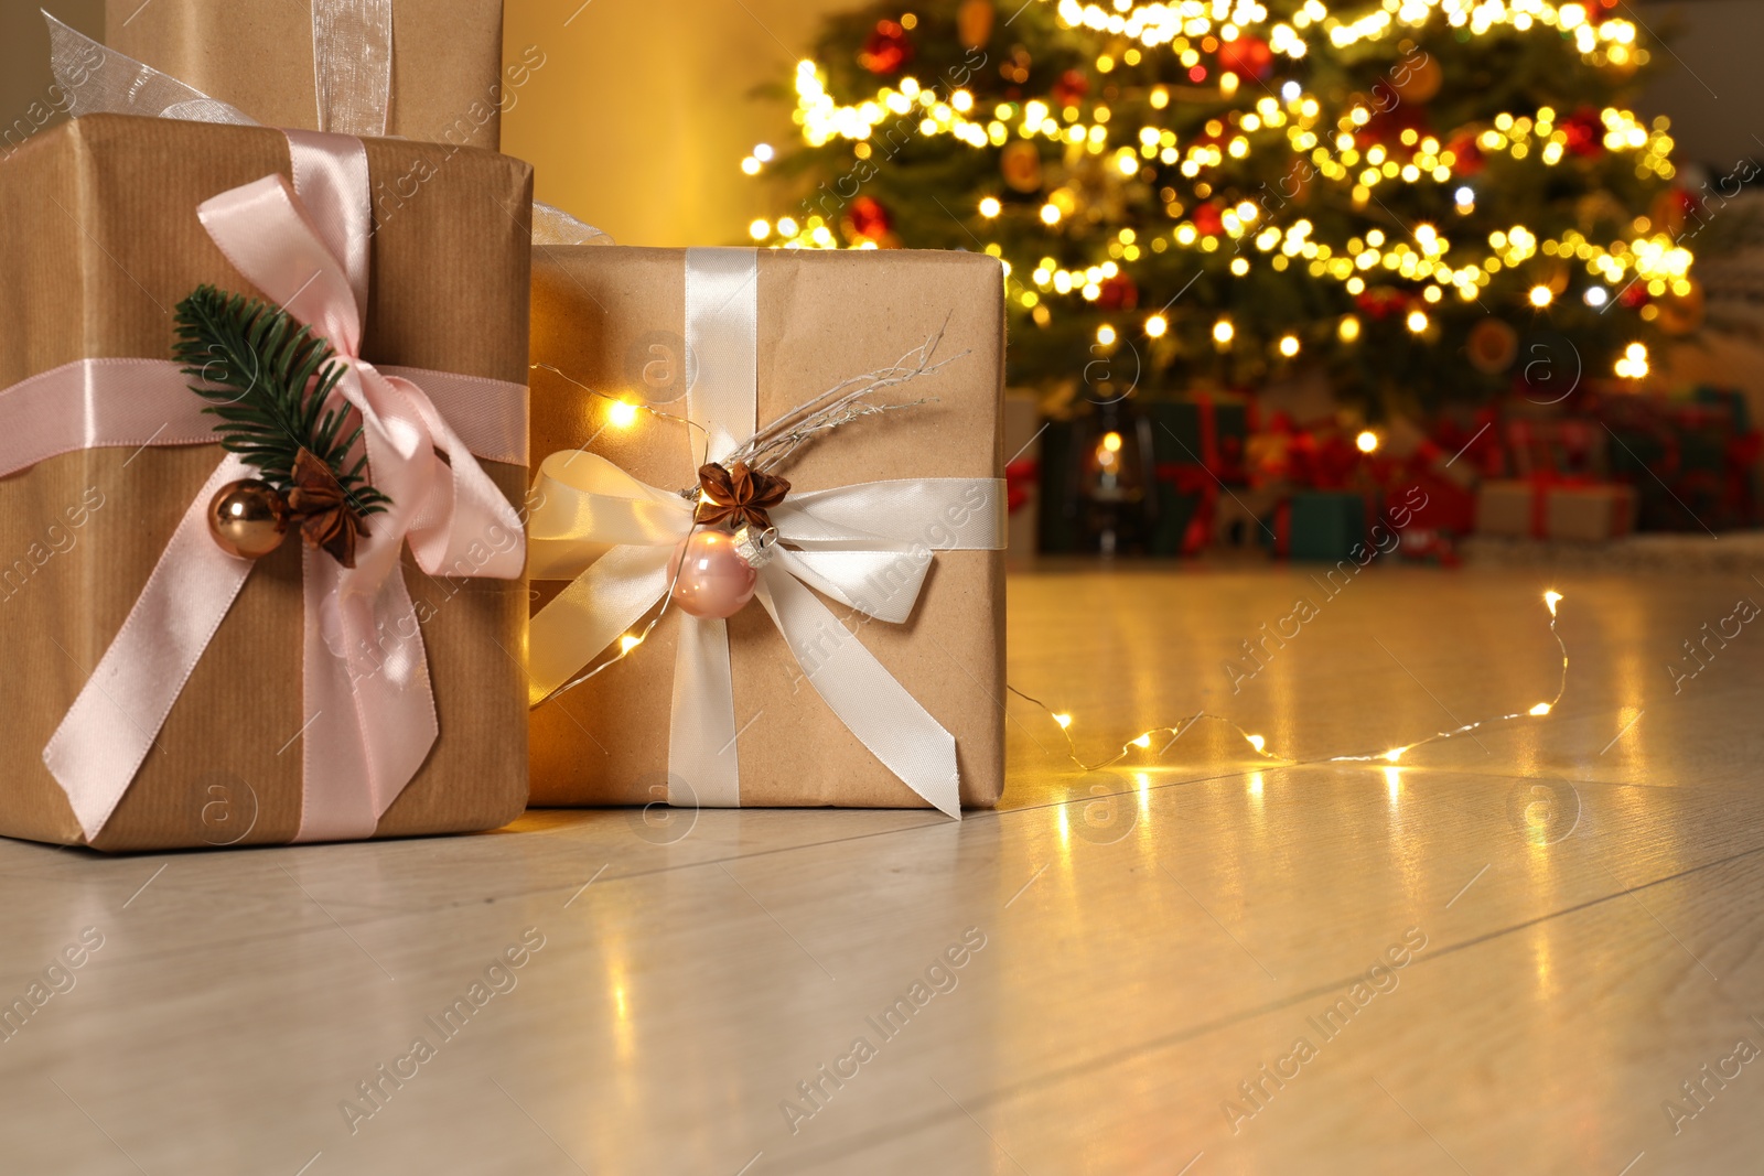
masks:
<svg viewBox="0 0 1764 1176"><path fill-rule="evenodd" d="M526 462L526 388L379 370L360 358L372 227L367 155L360 139L346 136L288 138L298 196L272 175L198 212L240 273L346 361L337 395L360 414L372 483L392 499L367 520L372 534L358 545L353 569L325 552L303 552L303 714L289 728L303 751L296 841L335 841L374 834L437 735L429 661L400 566L404 543L430 575L506 580L526 562L520 518L473 457ZM445 390L443 402L457 411L443 413L425 386ZM213 421L201 407L164 360L72 363L0 391L0 420L18 425L0 437L0 469L74 448L212 443ZM224 554L206 534L213 492L249 473L233 455L215 469L42 751L88 839L122 800L250 575L250 561Z"/></svg>

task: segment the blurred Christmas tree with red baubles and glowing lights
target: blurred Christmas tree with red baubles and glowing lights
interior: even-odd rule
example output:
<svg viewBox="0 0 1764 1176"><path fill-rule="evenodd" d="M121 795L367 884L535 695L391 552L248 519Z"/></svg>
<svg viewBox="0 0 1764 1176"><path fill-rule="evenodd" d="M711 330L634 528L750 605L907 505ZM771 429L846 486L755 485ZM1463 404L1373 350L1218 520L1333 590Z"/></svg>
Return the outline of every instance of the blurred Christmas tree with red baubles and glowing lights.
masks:
<svg viewBox="0 0 1764 1176"><path fill-rule="evenodd" d="M833 18L753 238L1002 257L1023 386L1311 367L1379 413L1641 379L1695 324L1619 0L1005 4Z"/></svg>

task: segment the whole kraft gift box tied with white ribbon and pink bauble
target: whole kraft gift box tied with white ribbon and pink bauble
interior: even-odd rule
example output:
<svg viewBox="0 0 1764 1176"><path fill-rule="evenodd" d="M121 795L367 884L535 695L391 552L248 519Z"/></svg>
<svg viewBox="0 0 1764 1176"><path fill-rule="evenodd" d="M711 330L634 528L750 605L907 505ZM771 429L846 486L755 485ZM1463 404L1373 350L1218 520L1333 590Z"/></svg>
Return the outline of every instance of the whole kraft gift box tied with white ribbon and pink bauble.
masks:
<svg viewBox="0 0 1764 1176"><path fill-rule="evenodd" d="M550 455L529 529L533 802L993 804L998 263L564 247L534 256L533 298L533 450ZM721 465L757 428L877 379L866 404L893 407L794 448L767 473L789 481L781 502ZM743 548L757 573L693 548L693 577L757 575L757 598L720 621L686 612L669 562L725 534L693 520L730 485L748 502L730 510L771 502L744 525L776 543Z"/></svg>

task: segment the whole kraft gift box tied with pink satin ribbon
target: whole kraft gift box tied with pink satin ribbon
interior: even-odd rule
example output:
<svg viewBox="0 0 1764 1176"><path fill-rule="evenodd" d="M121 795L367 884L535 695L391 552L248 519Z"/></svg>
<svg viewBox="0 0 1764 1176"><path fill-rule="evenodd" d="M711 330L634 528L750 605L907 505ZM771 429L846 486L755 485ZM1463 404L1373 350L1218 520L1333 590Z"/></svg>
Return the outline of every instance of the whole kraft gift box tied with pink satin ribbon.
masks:
<svg viewBox="0 0 1764 1176"><path fill-rule="evenodd" d="M372 233L365 187L337 182L319 238L298 215L314 192L282 178L295 152L365 157L363 178L436 175ZM527 599L510 502L526 490L529 243L508 210L531 199L531 169L473 150L443 169L446 155L95 115L0 167L0 633L28 666L0 679L0 832L168 850L519 815ZM339 386L390 397L385 420L425 437L383 462L369 430L367 476L399 490L362 520L355 569L298 538L250 564L206 532L217 481L250 467L189 390L226 365L191 377L171 361L180 300L203 284L316 323L346 358ZM411 525L448 481L453 518L482 510L496 527ZM386 547L400 532L445 538L445 561L423 557L434 575ZM510 554L513 578L482 578L508 575ZM332 607L326 587L362 596Z"/></svg>

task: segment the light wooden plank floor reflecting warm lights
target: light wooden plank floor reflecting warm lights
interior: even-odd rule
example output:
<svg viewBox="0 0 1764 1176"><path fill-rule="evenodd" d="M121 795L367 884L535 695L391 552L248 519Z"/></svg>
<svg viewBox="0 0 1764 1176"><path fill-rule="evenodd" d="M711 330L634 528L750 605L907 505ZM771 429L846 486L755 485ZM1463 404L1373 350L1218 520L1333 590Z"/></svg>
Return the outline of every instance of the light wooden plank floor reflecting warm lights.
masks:
<svg viewBox="0 0 1764 1176"><path fill-rule="evenodd" d="M1549 700L1545 589L1552 714L1323 762ZM960 825L0 843L0 1003L102 936L0 1044L0 1172L1759 1172L1764 629L1667 670L1743 598L1043 569L1009 677L1085 758L1205 709L1298 762L1198 728L1085 774L1013 698L1005 806Z"/></svg>

